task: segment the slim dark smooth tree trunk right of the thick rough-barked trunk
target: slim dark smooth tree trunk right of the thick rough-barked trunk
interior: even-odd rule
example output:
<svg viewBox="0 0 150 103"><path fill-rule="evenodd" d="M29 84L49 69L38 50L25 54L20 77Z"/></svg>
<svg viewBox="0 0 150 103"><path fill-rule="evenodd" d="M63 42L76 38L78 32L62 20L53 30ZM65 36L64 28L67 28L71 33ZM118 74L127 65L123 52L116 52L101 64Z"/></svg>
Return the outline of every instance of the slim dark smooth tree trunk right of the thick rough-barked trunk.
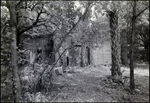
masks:
<svg viewBox="0 0 150 103"><path fill-rule="evenodd" d="M133 5L133 17L132 17L132 34L131 34L131 44L130 44L130 89L133 90L135 88L134 84L134 34L135 34L135 23L136 23L136 1L134 1Z"/></svg>

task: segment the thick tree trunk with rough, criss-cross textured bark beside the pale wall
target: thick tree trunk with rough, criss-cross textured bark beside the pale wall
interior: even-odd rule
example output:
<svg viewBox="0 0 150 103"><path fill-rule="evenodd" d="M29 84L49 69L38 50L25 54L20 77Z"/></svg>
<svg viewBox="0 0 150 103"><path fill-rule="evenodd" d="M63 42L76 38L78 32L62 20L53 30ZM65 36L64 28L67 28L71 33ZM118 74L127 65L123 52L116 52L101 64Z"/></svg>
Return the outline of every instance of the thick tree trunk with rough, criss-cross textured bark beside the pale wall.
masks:
<svg viewBox="0 0 150 103"><path fill-rule="evenodd" d="M118 14L116 10L108 12L110 20L110 32L111 32L111 55L112 55L112 68L111 75L119 75L120 71L120 34L118 32Z"/></svg>

